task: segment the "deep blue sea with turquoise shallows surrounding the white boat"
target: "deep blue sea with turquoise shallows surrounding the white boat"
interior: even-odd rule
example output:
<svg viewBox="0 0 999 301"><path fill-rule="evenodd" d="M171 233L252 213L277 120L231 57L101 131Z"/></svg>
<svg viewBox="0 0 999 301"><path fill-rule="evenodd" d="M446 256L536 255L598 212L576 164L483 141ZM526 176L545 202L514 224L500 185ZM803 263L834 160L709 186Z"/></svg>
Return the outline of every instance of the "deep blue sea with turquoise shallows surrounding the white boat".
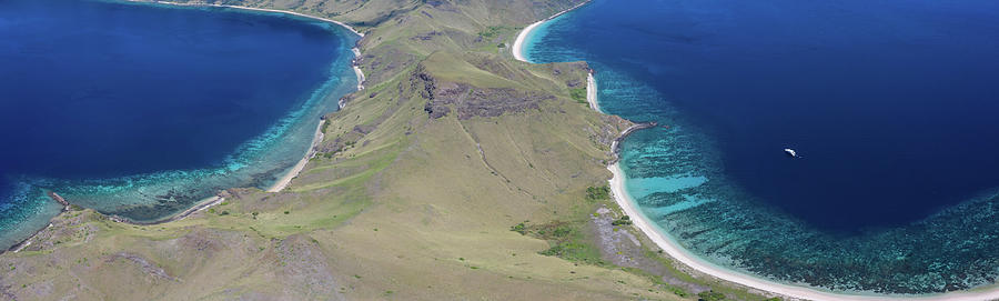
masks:
<svg viewBox="0 0 999 301"><path fill-rule="evenodd" d="M704 259L834 291L999 275L997 1L595 0L526 52L666 126L624 141L626 187Z"/></svg>

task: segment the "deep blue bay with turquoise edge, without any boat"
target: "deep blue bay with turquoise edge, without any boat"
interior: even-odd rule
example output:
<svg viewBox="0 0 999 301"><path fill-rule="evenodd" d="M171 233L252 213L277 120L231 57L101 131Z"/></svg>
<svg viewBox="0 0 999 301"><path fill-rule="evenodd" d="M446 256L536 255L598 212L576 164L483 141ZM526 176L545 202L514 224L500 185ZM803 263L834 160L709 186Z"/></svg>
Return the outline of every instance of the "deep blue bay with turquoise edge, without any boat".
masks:
<svg viewBox="0 0 999 301"><path fill-rule="evenodd" d="M0 248L58 212L48 191L152 221L266 188L356 84L356 39L274 13L0 1Z"/></svg>

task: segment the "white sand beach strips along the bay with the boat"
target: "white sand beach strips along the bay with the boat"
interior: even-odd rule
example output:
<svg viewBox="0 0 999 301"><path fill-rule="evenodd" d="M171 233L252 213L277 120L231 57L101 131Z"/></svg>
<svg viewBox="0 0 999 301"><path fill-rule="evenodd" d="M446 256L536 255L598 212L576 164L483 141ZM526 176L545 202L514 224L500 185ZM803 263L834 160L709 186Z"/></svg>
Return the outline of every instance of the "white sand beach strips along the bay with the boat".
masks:
<svg viewBox="0 0 999 301"><path fill-rule="evenodd" d="M573 7L568 10L558 12L552 17L548 17L544 20L534 22L527 27L525 27L518 34L516 40L513 43L511 52L514 59L523 62L528 62L524 57L524 42L527 39L527 36L536 29L538 26L543 24L546 21L557 18L568 11L572 11L576 8L582 7L583 4L588 3L589 1L583 2L576 7ZM606 114L603 110L601 110L599 104L597 103L597 87L596 80L593 77L593 70L591 70L587 76L587 84L586 84L586 101L589 103L589 107L598 112ZM724 281L728 281L731 283L737 283L744 287L748 287L751 289L757 289L761 291L766 291L774 294L779 294L783 297L789 297L794 299L805 299L805 300L830 300L830 301L858 301L858 300L945 300L945 301L972 301L972 300L995 300L999 299L999 289L986 289L982 291L955 291L947 292L942 294L926 294L926 295L891 295L891 294L847 294L847 293L835 293L829 291L820 291L816 288L811 287L803 287L803 285L791 285L785 283L778 283L775 281L770 281L760 277L746 274L743 272L729 270L726 268L722 268L715 265L693 253L688 250L684 249L682 245L676 243L673 239L668 237L664 231L659 231L655 225L653 225L652 220L645 215L644 212L638 210L636 202L630 195L627 193L627 189L625 187L625 174L624 170L620 169L619 165L619 157L618 157L618 148L620 141L624 140L628 134L642 130L655 127L655 123L639 123L633 126L622 132L622 134L614 140L612 143L612 152L614 159L610 161L612 163L607 165L607 169L610 171L613 177L608 180L612 197L615 202L622 208L625 214L632 217L632 221L634 222L634 227L637 228L642 233L649 238L659 249L662 249L665 253L669 255L669 258L680 262L682 264L696 270L700 273L714 277L716 279L720 279Z"/></svg>

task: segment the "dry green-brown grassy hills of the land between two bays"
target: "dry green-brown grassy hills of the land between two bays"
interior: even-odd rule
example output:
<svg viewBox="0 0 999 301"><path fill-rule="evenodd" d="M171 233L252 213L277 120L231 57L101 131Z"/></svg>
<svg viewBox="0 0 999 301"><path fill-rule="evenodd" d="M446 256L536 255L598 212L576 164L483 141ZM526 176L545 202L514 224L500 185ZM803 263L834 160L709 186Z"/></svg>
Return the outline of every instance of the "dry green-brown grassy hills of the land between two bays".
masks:
<svg viewBox="0 0 999 301"><path fill-rule="evenodd" d="M658 277L542 255L547 241L509 231L571 221L588 243L588 217L613 203L585 201L585 190L609 178L607 146L629 123L571 99L585 64L528 66L497 47L516 34L508 24L574 1L426 2L234 2L369 33L367 89L327 116L323 152L283 192L231 189L223 204L176 222L64 213L23 251L0 255L0 299L679 299ZM512 88L546 98L465 119L460 100L433 119L426 78L468 87L462 96ZM512 101L492 96L488 108Z"/></svg>

